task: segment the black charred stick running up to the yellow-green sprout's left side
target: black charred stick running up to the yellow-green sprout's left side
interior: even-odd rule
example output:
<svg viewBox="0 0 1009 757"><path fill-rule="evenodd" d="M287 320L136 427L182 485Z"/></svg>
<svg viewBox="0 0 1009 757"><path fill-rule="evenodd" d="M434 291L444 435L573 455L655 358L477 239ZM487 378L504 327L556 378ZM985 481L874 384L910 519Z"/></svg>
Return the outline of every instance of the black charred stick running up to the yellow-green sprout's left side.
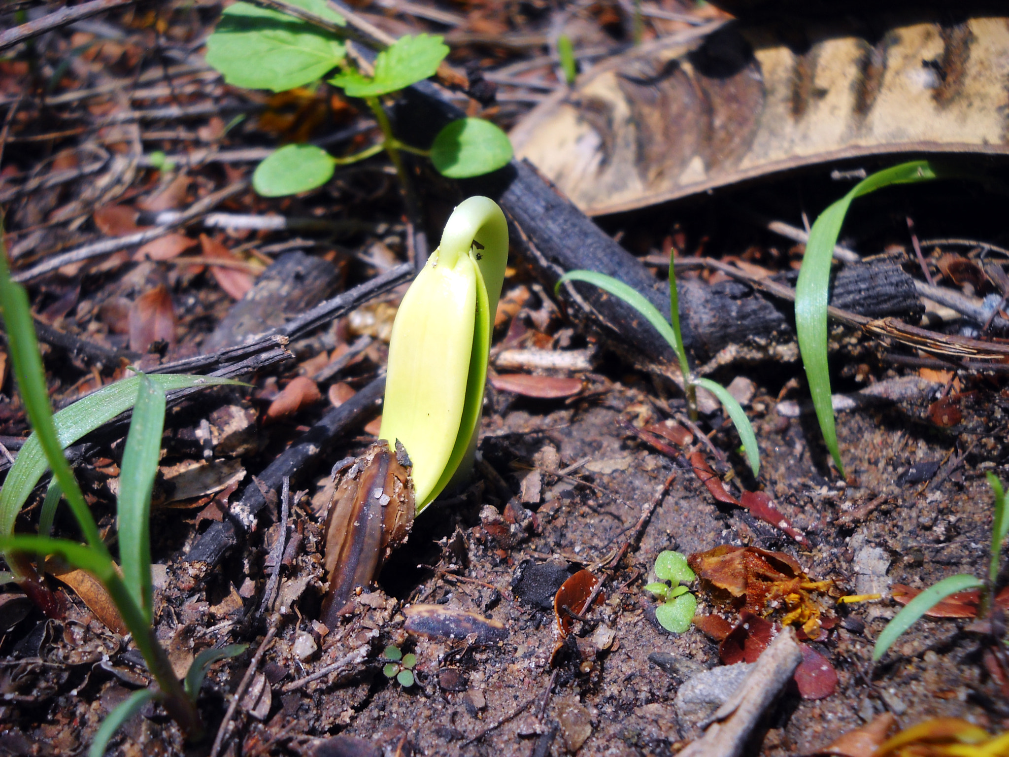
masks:
<svg viewBox="0 0 1009 757"><path fill-rule="evenodd" d="M373 412L385 391L385 376L379 376L338 408L333 408L300 439L258 475L258 481L267 490L281 489L285 477L303 478L308 468L329 449L337 436ZM232 505L227 519L212 523L185 556L189 562L204 562L209 567L217 565L225 552L238 543L256 522L257 513L266 504L266 498L255 481L242 492L241 500Z"/></svg>

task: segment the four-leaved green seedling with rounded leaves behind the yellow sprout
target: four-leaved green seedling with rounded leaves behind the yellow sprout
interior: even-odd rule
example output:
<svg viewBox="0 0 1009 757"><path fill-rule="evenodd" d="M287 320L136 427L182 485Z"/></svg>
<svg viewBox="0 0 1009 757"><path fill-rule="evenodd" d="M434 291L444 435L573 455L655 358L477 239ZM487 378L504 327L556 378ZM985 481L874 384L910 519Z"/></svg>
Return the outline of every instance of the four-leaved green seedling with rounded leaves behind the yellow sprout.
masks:
<svg viewBox="0 0 1009 757"><path fill-rule="evenodd" d="M340 157L309 144L281 147L259 164L252 175L252 185L260 195L281 197L316 189L332 178L337 166L357 163L382 150L405 188L409 186L409 176L403 165L403 151L429 157L435 169L450 179L487 174L512 159L508 135L479 118L452 121L438 132L429 149L407 144L393 133L379 98L434 76L449 52L442 37L403 36L380 51L373 71L367 72L356 59L346 55L346 45L333 31L346 23L342 16L330 10L324 0L293 2L328 28L237 2L225 8L217 29L207 39L207 63L221 72L228 84L273 92L316 86L331 71L339 69L329 83L348 97L364 100L381 129L382 140Z"/></svg>

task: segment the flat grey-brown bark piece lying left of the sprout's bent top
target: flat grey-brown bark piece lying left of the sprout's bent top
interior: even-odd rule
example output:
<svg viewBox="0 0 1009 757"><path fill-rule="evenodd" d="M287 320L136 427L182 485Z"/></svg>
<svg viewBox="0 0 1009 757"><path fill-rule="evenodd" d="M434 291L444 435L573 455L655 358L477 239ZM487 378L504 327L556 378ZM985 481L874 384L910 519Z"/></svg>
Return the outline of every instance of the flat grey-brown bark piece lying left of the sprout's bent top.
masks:
<svg viewBox="0 0 1009 757"><path fill-rule="evenodd" d="M301 250L287 252L262 272L255 286L231 306L203 348L216 351L231 347L252 335L281 327L288 319L329 297L338 283L339 274L328 260Z"/></svg>

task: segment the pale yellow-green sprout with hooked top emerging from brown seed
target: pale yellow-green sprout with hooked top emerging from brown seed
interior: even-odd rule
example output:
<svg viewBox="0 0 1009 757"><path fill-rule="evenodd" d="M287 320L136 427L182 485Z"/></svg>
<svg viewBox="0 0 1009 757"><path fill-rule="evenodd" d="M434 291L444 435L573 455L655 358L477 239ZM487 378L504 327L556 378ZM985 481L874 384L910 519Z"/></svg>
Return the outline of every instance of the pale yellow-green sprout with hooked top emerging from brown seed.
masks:
<svg viewBox="0 0 1009 757"><path fill-rule="evenodd" d="M462 202L393 324L379 438L413 463L417 512L472 459L508 261L508 223L485 197Z"/></svg>

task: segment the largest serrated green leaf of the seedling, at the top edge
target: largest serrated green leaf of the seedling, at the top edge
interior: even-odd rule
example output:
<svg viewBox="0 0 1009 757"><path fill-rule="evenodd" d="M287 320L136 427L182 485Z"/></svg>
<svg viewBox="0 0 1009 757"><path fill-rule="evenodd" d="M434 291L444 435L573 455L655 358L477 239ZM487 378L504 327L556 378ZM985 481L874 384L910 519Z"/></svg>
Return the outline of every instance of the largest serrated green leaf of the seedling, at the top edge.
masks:
<svg viewBox="0 0 1009 757"><path fill-rule="evenodd" d="M291 0L343 25L325 0ZM336 36L310 23L249 3L225 8L207 38L207 63L236 87L283 92L322 79L343 60Z"/></svg>

